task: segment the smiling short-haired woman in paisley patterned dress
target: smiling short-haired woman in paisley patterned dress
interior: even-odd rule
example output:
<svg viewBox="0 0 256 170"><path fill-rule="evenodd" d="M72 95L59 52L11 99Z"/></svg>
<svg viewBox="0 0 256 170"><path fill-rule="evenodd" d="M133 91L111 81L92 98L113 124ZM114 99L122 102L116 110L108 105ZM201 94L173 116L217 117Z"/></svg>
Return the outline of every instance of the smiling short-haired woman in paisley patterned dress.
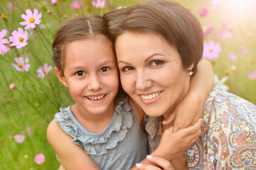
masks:
<svg viewBox="0 0 256 170"><path fill-rule="evenodd" d="M196 74L204 48L201 26L187 8L171 1L145 2L104 18L123 89L150 116L145 128L153 151L172 125L161 120L187 95L191 74ZM255 105L213 86L202 118L202 137L186 152L190 169L256 168Z"/></svg>

